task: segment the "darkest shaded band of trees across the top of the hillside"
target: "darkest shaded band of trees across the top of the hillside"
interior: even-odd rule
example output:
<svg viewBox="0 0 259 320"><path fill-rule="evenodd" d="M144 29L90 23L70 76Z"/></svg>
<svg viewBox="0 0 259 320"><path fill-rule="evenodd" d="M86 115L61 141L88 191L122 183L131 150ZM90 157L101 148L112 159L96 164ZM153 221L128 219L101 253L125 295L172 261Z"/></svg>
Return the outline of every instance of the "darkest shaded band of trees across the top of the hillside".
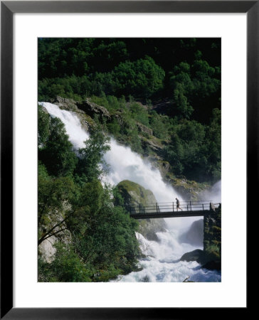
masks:
<svg viewBox="0 0 259 320"><path fill-rule="evenodd" d="M114 95L171 100L207 122L221 107L219 38L39 38L39 100Z"/></svg>

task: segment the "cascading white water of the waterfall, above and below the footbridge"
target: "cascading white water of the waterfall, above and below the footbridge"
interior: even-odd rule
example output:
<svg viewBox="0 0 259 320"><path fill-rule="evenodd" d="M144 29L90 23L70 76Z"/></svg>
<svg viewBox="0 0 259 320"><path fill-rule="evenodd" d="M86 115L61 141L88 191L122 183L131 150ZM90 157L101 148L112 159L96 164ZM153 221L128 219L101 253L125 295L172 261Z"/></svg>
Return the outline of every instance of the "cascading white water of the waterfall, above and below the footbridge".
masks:
<svg viewBox="0 0 259 320"><path fill-rule="evenodd" d="M58 117L65 124L70 142L75 149L84 146L83 142L88 139L89 134L81 126L75 112L60 110L57 105L48 102L40 102L40 105L48 110L51 117ZM111 139L110 147L110 151L105 154L105 161L110 165L110 173L105 177L107 183L116 185L120 181L130 180L151 190L157 202L172 202L176 197L180 201L184 200L171 186L164 183L158 169L152 168L151 164L132 152L129 147L117 144L114 139ZM191 223L199 219L166 218L168 232L157 233L159 242L149 241L137 234L142 251L148 256L140 262L143 270L120 277L117 281L182 282L186 277L199 282L221 281L219 272L202 270L197 262L179 261L181 255L197 247L182 243L180 245L177 238Z"/></svg>

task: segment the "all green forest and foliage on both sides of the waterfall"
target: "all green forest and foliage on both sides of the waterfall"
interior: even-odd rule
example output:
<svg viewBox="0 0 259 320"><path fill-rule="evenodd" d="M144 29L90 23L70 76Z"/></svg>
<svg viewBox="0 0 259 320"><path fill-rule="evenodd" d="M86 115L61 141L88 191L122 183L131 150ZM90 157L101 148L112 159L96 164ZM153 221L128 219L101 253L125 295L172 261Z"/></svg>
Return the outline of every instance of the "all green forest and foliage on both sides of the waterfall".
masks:
<svg viewBox="0 0 259 320"><path fill-rule="evenodd" d="M38 101L57 96L110 116L94 117L75 154L63 123L38 107L38 244L64 230L71 237L51 263L39 256L39 281L107 281L137 270L140 255L137 222L100 183L108 136L155 154L170 177L221 178L221 39L39 38Z"/></svg>

